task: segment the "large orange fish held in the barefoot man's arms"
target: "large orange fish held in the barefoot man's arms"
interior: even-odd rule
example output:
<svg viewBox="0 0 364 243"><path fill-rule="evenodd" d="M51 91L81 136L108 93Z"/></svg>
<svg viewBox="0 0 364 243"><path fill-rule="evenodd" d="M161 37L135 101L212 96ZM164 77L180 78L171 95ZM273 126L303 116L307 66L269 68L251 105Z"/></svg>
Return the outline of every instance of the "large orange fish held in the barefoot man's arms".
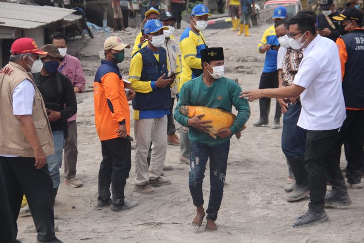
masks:
<svg viewBox="0 0 364 243"><path fill-rule="evenodd" d="M208 123L208 125L212 126L209 128L208 133L214 139L216 139L215 135L218 131L224 128L230 128L236 118L234 114L228 111L206 106L183 105L180 107L179 111L181 114L189 118L204 114L204 116L200 119L202 121L212 121L211 123Z"/></svg>

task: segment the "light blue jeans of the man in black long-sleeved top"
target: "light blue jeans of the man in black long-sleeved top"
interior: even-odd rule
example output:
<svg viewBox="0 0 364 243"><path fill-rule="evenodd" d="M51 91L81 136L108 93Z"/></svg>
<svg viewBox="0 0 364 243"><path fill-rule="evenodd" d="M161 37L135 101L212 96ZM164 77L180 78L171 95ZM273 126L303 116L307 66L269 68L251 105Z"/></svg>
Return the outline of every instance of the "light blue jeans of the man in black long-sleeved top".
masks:
<svg viewBox="0 0 364 243"><path fill-rule="evenodd" d="M48 169L50 171L50 178L53 181L53 188L58 188L61 182L59 169L62 166L62 153L65 139L63 138L63 131L52 131L54 143L54 155L47 156Z"/></svg>

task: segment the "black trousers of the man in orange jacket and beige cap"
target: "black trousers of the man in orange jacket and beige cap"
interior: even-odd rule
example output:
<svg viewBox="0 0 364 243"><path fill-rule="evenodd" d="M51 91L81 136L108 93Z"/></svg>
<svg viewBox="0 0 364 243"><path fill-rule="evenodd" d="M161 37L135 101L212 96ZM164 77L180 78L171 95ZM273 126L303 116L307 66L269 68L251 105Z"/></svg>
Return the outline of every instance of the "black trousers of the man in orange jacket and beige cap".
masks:
<svg viewBox="0 0 364 243"><path fill-rule="evenodd" d="M132 146L129 139L116 138L101 141L102 161L99 170L99 198L110 199L110 184L113 204L124 204L126 179L132 168Z"/></svg>

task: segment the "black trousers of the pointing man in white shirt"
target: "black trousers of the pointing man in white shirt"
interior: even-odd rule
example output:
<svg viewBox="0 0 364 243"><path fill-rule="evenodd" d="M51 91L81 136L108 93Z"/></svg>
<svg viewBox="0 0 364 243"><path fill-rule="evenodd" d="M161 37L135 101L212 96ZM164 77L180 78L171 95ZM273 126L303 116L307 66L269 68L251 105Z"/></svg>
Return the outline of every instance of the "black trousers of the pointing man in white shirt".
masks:
<svg viewBox="0 0 364 243"><path fill-rule="evenodd" d="M326 182L332 184L332 191L338 195L347 193L340 166L333 148L338 129L306 132L305 167L309 175L309 210L322 212L325 206Z"/></svg>

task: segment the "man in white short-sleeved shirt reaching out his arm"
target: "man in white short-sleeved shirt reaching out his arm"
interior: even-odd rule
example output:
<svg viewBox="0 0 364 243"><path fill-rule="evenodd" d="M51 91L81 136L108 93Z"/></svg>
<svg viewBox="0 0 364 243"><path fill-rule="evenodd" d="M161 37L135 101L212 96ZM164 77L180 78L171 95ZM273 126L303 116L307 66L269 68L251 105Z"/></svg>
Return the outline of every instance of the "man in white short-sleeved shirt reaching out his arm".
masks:
<svg viewBox="0 0 364 243"><path fill-rule="evenodd" d="M300 95L302 109L297 125L307 130L305 167L309 174L311 202L308 211L293 227L311 226L329 219L325 204L331 207L351 204L340 166L332 152L334 139L346 118L340 59L335 43L316 35L314 19L308 14L291 18L288 35L292 48L304 49L292 85L246 91L241 97L253 101L262 97ZM325 197L326 178L332 184L332 192Z"/></svg>

